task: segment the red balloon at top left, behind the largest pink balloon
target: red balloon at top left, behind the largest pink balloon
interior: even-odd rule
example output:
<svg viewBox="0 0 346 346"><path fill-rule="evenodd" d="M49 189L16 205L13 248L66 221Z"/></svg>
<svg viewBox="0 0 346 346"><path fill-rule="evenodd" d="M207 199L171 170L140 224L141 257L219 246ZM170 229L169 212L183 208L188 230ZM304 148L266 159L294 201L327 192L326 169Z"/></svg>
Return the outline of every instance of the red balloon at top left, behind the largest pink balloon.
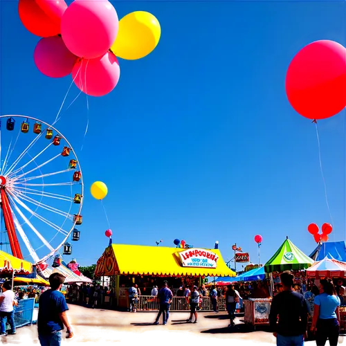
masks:
<svg viewBox="0 0 346 346"><path fill-rule="evenodd" d="M19 0L18 12L21 23L30 33L40 37L60 34L60 21L49 17L35 0Z"/></svg>

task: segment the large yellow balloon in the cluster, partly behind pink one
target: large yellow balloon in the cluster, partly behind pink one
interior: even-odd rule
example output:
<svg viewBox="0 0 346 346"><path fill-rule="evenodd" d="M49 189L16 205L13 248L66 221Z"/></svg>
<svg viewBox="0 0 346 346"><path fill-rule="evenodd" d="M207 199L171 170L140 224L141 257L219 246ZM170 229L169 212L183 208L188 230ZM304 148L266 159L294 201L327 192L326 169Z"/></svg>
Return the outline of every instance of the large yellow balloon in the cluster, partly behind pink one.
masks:
<svg viewBox="0 0 346 346"><path fill-rule="evenodd" d="M137 60L154 51L161 26L149 12L131 12L119 21L119 31L111 51L126 60Z"/></svg>

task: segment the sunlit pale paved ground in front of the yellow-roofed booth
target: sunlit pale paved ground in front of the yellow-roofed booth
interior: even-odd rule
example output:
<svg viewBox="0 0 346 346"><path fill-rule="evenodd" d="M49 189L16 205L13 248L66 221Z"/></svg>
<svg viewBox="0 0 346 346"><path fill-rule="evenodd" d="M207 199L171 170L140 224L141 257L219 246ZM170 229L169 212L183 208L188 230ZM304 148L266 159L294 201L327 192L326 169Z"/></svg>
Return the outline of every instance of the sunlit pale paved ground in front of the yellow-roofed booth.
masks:
<svg viewBox="0 0 346 346"><path fill-rule="evenodd" d="M275 343L275 338L266 331L251 331L237 318L237 325L229 329L226 311L219 313L199 313L198 323L187 323L189 313L172 312L167 326L153 325L155 312L130 313L102 309L86 309L78 305L69 305L69 317L75 329L75 339L78 343L115 342L116 334L122 331L143 334L146 331L170 331L171 333L188 334L200 338L237 339L251 343ZM160 321L162 323L162 320ZM17 335L1 338L2 344L20 345L21 336L28 335L37 345L37 326L31 325L17 329ZM109 340L113 339L113 340Z"/></svg>

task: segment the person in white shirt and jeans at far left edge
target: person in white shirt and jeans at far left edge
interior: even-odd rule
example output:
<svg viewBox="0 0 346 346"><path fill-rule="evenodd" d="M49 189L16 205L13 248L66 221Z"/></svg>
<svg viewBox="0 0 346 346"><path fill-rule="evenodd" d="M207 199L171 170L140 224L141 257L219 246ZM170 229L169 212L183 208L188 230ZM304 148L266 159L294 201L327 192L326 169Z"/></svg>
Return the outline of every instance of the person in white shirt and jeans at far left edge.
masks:
<svg viewBox="0 0 346 346"><path fill-rule="evenodd" d="M0 336L6 336L6 322L10 324L10 334L16 334L15 318L13 317L13 307L18 305L15 300L15 292L12 291L12 283L10 281L3 282L2 293L0 295Z"/></svg>

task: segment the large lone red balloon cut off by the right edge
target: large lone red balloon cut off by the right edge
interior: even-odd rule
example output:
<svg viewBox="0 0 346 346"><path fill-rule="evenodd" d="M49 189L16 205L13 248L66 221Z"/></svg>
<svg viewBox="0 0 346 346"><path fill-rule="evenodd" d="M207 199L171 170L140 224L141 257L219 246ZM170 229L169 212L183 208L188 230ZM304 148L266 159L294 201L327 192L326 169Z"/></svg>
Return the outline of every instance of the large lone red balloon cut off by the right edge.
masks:
<svg viewBox="0 0 346 346"><path fill-rule="evenodd" d="M286 73L291 106L309 119L335 116L346 107L346 48L334 41L308 44Z"/></svg>

